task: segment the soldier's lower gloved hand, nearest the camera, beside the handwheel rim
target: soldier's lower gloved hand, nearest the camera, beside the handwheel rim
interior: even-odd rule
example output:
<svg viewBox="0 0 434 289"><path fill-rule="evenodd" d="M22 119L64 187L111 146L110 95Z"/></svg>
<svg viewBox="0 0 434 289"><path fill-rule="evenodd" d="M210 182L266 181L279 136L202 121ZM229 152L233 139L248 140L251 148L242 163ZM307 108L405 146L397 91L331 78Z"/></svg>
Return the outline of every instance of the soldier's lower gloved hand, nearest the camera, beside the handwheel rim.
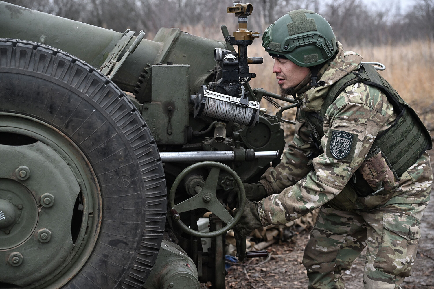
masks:
<svg viewBox="0 0 434 289"><path fill-rule="evenodd" d="M234 211L234 214L237 210ZM239 238L246 237L253 230L262 227L262 223L258 214L258 204L246 200L246 206L244 207L243 214L241 215L240 221L233 227L233 231L237 233Z"/></svg>

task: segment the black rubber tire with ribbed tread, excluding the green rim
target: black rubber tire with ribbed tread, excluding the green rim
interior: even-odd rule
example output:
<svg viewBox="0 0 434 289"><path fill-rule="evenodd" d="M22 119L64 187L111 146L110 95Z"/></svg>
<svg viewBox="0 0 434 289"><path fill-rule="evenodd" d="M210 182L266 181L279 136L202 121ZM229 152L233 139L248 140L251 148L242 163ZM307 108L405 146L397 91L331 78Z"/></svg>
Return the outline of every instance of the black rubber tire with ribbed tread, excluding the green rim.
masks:
<svg viewBox="0 0 434 289"><path fill-rule="evenodd" d="M161 245L167 195L157 146L128 97L66 52L0 39L0 113L30 116L60 130L84 153L99 181L98 239L62 288L141 288ZM122 189L120 178L127 180Z"/></svg>

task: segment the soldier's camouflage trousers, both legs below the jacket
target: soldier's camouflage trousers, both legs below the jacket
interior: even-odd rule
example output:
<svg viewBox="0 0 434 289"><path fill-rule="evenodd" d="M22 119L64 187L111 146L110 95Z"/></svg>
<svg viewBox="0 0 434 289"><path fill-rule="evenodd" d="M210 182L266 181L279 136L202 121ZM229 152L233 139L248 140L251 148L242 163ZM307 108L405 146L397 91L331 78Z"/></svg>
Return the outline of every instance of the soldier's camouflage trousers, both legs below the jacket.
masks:
<svg viewBox="0 0 434 289"><path fill-rule="evenodd" d="M394 204L374 211L321 208L303 256L309 288L344 289L342 272L365 247L365 288L399 288L411 275L426 205Z"/></svg>

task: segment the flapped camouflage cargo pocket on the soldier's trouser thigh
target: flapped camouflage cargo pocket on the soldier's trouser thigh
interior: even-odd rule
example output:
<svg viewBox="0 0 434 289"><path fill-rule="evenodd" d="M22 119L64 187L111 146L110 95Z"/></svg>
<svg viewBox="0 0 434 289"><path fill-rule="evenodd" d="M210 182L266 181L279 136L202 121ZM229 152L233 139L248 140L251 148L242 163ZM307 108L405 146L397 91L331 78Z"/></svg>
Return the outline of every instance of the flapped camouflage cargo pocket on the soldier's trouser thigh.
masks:
<svg viewBox="0 0 434 289"><path fill-rule="evenodd" d="M396 276L410 276L420 237L421 223L418 219L405 214L385 213L383 236L374 267Z"/></svg>

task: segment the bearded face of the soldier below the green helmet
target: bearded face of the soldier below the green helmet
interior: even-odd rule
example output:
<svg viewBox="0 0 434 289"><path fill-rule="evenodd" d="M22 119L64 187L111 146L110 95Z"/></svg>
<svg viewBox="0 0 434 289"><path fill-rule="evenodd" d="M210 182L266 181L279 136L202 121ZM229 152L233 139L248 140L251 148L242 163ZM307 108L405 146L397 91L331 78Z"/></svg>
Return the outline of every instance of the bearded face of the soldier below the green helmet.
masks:
<svg viewBox="0 0 434 289"><path fill-rule="evenodd" d="M309 74L309 68L301 67L286 58L273 57L273 73L283 91L291 91Z"/></svg>

